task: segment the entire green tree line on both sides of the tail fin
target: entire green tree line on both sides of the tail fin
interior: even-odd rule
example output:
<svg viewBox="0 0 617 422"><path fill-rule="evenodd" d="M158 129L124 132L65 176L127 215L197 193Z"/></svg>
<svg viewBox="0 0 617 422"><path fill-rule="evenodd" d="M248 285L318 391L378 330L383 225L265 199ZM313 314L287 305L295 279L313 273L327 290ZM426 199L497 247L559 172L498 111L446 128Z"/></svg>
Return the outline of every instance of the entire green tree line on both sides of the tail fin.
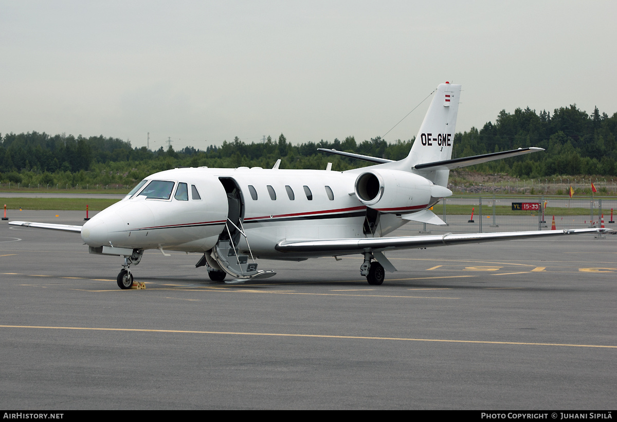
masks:
<svg viewBox="0 0 617 422"><path fill-rule="evenodd" d="M485 173L506 173L519 178L553 175L617 175L615 138L617 113L608 117L597 107L591 115L576 105L542 110L502 110L495 123L481 130L471 128L457 133L453 157L486 154L518 147L537 146L547 151L473 167ZM381 137L357 142L354 136L344 140L294 144L280 134L264 142L244 143L237 136L205 151L184 147L167 151L160 147L132 147L128 141L104 136L46 133L0 134L0 183L29 185L130 186L145 176L174 167L271 167L281 159L281 168L325 168L334 170L369 165L337 155L323 154L317 148L338 149L391 160L407 156L414 139L387 142Z"/></svg>

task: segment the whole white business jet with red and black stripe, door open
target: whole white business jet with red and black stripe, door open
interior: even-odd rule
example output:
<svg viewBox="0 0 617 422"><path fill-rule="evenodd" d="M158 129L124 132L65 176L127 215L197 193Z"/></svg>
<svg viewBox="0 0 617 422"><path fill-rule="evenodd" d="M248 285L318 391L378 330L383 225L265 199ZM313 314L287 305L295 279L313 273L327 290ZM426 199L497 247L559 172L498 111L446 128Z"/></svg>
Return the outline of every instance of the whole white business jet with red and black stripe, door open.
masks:
<svg viewBox="0 0 617 422"><path fill-rule="evenodd" d="M255 259L305 260L360 254L360 274L381 284L395 271L384 252L472 242L589 233L600 229L384 237L407 221L444 225L429 208L452 195L452 168L543 151L523 148L451 159L460 85L439 85L407 158L400 161L322 150L376 163L335 172L278 168L175 168L141 181L83 226L9 224L81 234L91 254L123 258L117 282L133 285L131 265L146 249L201 254L210 279L266 278Z"/></svg>

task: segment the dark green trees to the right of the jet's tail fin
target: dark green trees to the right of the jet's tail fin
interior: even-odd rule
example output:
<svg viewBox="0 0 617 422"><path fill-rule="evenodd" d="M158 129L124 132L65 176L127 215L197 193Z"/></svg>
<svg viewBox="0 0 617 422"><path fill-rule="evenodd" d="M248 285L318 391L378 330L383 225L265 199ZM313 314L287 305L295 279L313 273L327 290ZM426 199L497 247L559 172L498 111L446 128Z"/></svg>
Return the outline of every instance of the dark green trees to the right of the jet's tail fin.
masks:
<svg viewBox="0 0 617 422"><path fill-rule="evenodd" d="M542 110L516 109L513 114L502 110L495 123L481 130L457 133L453 155L505 151L519 147L540 147L544 153L529 154L509 160L478 165L474 170L507 173L523 178L554 175L617 175L615 138L617 113L608 117L595 107L593 114L576 105L555 109L553 115Z"/></svg>

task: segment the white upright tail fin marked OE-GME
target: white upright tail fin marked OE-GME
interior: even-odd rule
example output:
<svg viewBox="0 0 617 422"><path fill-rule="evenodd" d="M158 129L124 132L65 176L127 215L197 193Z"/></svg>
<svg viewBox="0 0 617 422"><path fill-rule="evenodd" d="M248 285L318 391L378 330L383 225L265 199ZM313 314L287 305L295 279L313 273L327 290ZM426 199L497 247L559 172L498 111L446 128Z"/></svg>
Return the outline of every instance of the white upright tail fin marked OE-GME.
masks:
<svg viewBox="0 0 617 422"><path fill-rule="evenodd" d="M449 160L452 158L454 130L457 123L461 86L449 82L437 87L431 106L413 142L412 150L402 160L405 170L416 164ZM447 186L449 170L431 170L421 175L440 186Z"/></svg>

